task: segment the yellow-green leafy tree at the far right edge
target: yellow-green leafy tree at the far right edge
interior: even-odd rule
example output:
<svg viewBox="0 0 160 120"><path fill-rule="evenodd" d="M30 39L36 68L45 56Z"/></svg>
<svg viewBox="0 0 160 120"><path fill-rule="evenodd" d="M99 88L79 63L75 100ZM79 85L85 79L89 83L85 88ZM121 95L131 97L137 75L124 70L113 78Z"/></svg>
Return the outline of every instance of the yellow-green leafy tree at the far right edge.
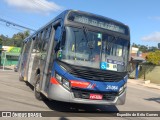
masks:
<svg viewBox="0 0 160 120"><path fill-rule="evenodd" d="M160 50L149 52L147 55L147 61L155 65L160 65Z"/></svg>

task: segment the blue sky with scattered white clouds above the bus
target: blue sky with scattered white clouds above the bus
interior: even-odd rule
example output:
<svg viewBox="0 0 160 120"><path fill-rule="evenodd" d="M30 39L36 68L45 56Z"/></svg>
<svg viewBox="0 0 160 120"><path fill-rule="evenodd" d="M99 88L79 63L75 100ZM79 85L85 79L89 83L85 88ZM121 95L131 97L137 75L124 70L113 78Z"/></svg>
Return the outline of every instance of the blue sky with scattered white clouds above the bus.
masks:
<svg viewBox="0 0 160 120"><path fill-rule="evenodd" d="M130 28L131 43L158 46L160 0L0 0L0 19L37 30L66 9L99 14ZM0 34L24 29L0 21Z"/></svg>

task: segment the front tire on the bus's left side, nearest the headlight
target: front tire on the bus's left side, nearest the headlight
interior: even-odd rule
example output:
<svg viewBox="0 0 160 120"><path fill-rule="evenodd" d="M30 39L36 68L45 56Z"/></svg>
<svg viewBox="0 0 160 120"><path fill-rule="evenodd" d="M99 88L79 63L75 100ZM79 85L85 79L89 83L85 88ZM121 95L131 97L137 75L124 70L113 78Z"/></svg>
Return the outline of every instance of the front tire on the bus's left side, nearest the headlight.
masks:
<svg viewBox="0 0 160 120"><path fill-rule="evenodd" d="M37 100L43 100L43 96L40 92L40 79L39 79L39 75L37 75L36 77L36 83L34 85L34 95L36 97Z"/></svg>

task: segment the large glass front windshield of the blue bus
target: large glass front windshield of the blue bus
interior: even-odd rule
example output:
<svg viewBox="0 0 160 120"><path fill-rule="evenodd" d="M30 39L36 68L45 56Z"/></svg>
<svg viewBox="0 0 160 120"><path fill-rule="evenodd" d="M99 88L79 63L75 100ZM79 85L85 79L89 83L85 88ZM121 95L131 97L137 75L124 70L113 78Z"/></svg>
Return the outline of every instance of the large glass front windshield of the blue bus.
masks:
<svg viewBox="0 0 160 120"><path fill-rule="evenodd" d="M63 62L124 72L127 68L129 41L108 34L86 29L66 27L66 39L62 45Z"/></svg>

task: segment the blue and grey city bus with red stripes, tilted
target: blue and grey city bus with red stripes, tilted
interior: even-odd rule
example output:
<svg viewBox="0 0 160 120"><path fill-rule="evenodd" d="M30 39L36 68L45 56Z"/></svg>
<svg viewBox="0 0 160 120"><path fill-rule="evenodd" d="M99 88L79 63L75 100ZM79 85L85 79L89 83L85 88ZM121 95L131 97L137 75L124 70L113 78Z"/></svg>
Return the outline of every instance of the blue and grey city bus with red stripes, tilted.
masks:
<svg viewBox="0 0 160 120"><path fill-rule="evenodd" d="M38 100L123 105L129 50L127 25L66 10L24 40L19 79Z"/></svg>

